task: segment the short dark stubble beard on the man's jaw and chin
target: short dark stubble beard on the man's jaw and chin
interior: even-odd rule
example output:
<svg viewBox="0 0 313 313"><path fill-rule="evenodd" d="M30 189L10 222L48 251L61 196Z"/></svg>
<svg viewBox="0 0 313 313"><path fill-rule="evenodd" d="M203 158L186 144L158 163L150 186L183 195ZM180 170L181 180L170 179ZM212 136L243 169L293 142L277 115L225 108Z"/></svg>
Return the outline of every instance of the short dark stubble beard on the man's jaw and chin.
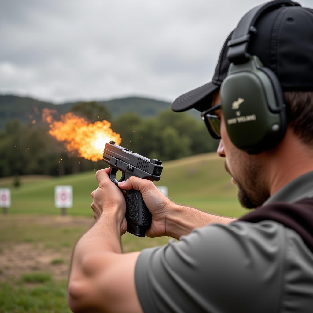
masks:
<svg viewBox="0 0 313 313"><path fill-rule="evenodd" d="M233 174L230 172L227 163L224 163L226 172L232 177ZM262 205L267 198L269 198L269 192L264 188L264 183L261 179L261 167L254 164L249 166L245 164L244 170L244 181L242 182L239 177L237 179L233 177L238 187L238 200L244 208L254 209Z"/></svg>

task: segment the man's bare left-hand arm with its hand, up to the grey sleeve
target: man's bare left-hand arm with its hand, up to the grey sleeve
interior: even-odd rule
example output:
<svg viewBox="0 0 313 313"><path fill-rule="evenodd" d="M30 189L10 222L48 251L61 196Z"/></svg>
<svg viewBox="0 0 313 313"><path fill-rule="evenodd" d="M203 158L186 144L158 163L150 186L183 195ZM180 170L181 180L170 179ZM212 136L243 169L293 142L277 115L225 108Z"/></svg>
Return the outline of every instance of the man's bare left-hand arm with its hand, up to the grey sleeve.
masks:
<svg viewBox="0 0 313 313"><path fill-rule="evenodd" d="M92 193L96 223L74 248L69 276L69 307L73 312L142 312L135 286L139 252L122 254L126 231L123 194L105 170L96 174ZM103 212L102 212L103 209Z"/></svg>

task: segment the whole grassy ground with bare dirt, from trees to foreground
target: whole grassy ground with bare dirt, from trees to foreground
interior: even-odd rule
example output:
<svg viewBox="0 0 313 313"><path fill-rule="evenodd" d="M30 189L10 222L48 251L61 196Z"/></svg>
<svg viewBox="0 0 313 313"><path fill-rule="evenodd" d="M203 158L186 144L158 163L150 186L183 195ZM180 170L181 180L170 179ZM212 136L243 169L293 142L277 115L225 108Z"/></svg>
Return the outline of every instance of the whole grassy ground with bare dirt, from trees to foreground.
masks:
<svg viewBox="0 0 313 313"><path fill-rule="evenodd" d="M246 213L236 199L236 187L216 154L165 162L160 182L169 198L215 214L239 217ZM93 221L90 193L97 187L95 172L60 178L0 179L11 188L12 206L0 216L0 313L70 312L67 276L75 242ZM54 186L72 185L73 208L60 216L54 207ZM167 243L168 238L122 237L124 252Z"/></svg>

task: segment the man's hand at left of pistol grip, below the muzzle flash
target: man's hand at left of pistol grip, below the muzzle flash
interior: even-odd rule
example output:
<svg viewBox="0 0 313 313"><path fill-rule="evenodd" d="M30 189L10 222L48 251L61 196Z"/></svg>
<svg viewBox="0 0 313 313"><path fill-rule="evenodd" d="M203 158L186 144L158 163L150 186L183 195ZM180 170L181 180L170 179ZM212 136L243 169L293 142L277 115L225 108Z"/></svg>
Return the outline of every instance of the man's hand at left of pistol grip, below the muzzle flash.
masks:
<svg viewBox="0 0 313 313"><path fill-rule="evenodd" d="M105 168L96 172L96 178L99 187L91 192L91 208L94 212L94 218L100 218L102 213L105 215L118 215L121 219L121 233L126 232L126 202L121 190L111 182L108 174L110 168Z"/></svg>

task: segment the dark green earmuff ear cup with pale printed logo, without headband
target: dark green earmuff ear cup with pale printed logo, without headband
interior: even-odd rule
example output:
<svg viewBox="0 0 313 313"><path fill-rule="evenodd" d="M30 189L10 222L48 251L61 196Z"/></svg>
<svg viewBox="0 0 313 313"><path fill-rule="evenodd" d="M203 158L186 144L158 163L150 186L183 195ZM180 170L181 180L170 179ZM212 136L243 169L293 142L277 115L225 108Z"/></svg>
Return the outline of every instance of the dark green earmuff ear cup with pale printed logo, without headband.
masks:
<svg viewBox="0 0 313 313"><path fill-rule="evenodd" d="M262 66L256 56L244 64L231 64L220 90L228 136L249 154L271 149L285 133L279 81L272 83L275 74L260 70Z"/></svg>

